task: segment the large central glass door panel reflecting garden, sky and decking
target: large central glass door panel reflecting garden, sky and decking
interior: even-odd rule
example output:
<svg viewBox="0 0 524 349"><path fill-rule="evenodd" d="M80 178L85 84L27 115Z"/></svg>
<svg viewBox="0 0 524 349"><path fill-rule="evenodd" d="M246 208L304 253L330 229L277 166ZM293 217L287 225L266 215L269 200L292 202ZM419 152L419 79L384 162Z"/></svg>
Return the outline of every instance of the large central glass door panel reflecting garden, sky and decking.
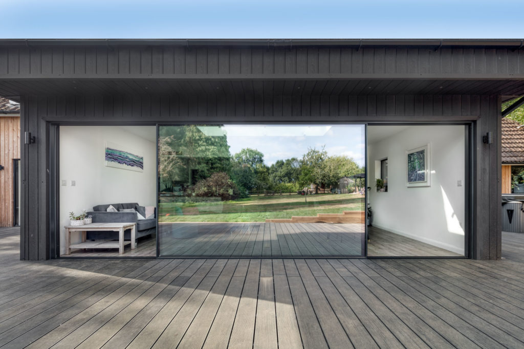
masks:
<svg viewBox="0 0 524 349"><path fill-rule="evenodd" d="M160 126L160 256L363 256L363 125Z"/></svg>

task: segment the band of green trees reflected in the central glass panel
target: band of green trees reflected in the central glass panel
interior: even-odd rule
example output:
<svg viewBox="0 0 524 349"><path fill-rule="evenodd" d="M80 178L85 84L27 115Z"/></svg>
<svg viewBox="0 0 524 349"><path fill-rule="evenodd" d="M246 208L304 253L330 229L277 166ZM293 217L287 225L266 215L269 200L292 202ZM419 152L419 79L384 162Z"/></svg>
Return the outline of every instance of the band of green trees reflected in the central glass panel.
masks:
<svg viewBox="0 0 524 349"><path fill-rule="evenodd" d="M363 172L352 158L328 156L325 146L309 148L301 159L277 160L271 166L264 163L264 154L257 149L244 148L232 156L227 135L220 132L221 126L212 128L208 133L196 125L160 127L158 170L161 191L191 196L206 196L214 192L224 198L223 192L208 188L208 179L220 173L222 177L213 181L224 185L228 181L233 183L234 187L227 184L229 189L224 189L232 197L246 197L254 191L296 192L311 184L318 192L321 187L336 188L341 178Z"/></svg>

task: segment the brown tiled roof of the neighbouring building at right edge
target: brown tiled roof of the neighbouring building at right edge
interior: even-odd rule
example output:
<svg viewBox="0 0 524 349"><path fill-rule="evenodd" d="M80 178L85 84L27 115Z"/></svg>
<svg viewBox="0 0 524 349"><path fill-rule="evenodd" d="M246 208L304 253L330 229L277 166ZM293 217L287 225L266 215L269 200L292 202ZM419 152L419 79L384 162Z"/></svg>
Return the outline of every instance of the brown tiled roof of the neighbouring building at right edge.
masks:
<svg viewBox="0 0 524 349"><path fill-rule="evenodd" d="M524 125L502 119L502 163L524 163Z"/></svg>

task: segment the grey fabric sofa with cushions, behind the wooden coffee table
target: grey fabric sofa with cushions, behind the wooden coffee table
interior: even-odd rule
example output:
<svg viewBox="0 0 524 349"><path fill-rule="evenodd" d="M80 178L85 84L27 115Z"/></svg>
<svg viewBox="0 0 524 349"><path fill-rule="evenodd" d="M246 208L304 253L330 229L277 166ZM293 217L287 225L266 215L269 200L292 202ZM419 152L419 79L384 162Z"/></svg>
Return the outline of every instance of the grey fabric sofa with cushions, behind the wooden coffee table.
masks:
<svg viewBox="0 0 524 349"><path fill-rule="evenodd" d="M137 223L135 237L139 238L146 235L155 234L157 231L157 219L156 219L156 209L155 209L155 218L148 220L138 220L137 214L134 212L107 212L109 205L117 210L120 209L134 209L138 205L136 202L129 203L115 203L115 204L106 204L106 205L96 205L93 206L93 211L88 212L88 215L93 217L93 223ZM86 239L88 240L108 240L114 239L115 233L111 232L90 232L86 233ZM118 237L116 237L118 238ZM124 232L124 239L131 239L131 230L126 230Z"/></svg>

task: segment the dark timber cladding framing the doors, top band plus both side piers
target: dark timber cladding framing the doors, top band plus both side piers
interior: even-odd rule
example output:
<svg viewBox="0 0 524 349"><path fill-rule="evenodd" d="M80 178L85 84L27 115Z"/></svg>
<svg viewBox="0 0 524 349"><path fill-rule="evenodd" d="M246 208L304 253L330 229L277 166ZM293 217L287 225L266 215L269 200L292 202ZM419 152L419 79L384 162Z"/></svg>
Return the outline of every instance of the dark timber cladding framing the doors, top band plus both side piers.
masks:
<svg viewBox="0 0 524 349"><path fill-rule="evenodd" d="M234 102L231 101L234 100ZM497 259L501 254L500 99L496 95L366 95L294 97L260 96L259 101L224 94L216 99L198 96L29 96L23 100L21 132L37 135L36 144L23 146L23 189L20 256L49 258L49 121L78 124L185 122L450 122L479 117L474 122L472 257ZM239 105L241 104L241 105ZM246 111L250 111L247 115ZM42 116L46 117L43 121ZM493 133L493 144L483 135ZM23 143L23 140L22 140Z"/></svg>

